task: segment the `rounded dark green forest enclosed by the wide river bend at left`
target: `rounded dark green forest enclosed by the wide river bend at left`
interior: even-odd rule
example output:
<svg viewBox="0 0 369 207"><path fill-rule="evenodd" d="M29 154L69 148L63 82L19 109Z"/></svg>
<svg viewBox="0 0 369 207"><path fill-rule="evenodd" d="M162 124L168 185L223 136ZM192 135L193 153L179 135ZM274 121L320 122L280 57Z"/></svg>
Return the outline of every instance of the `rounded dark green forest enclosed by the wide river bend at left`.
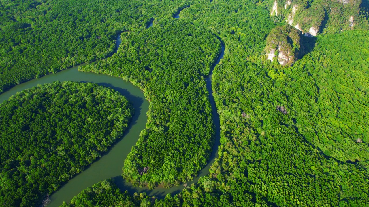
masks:
<svg viewBox="0 0 369 207"><path fill-rule="evenodd" d="M0 203L35 206L101 156L132 117L118 92L92 83L54 82L0 105Z"/></svg>

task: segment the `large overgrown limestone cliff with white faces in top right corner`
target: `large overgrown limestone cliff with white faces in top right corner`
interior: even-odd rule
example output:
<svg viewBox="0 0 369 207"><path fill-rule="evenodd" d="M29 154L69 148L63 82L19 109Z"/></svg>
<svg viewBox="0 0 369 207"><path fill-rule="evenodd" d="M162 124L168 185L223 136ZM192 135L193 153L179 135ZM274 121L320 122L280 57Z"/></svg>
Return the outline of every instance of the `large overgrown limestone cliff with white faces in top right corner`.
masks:
<svg viewBox="0 0 369 207"><path fill-rule="evenodd" d="M273 2L273 3L272 3ZM269 3L271 15L285 17L307 36L320 31L335 33L352 28L368 29L361 0L275 0Z"/></svg>

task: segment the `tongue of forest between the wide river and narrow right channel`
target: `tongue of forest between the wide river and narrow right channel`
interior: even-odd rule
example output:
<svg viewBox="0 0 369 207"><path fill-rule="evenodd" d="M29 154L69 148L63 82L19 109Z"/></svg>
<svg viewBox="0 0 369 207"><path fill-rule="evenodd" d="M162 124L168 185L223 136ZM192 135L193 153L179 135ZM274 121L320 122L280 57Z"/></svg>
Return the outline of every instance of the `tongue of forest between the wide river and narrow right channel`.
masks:
<svg viewBox="0 0 369 207"><path fill-rule="evenodd" d="M122 34L113 57L80 70L131 81L150 101L148 123L124 162L134 185L179 185L206 165L214 141L204 76L220 53L210 32L172 17Z"/></svg>

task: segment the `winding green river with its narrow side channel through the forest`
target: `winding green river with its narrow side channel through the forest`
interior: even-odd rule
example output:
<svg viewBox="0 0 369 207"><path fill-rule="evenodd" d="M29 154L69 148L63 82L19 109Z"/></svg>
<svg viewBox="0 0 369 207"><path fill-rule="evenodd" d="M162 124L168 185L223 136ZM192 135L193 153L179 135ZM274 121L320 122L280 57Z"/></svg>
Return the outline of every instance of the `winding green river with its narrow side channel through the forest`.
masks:
<svg viewBox="0 0 369 207"><path fill-rule="evenodd" d="M120 43L121 39L119 35L117 38L117 50ZM117 52L117 50L115 50L115 52ZM219 63L220 59L223 58L223 55L224 46L222 44L221 55L218 58L217 62L214 64L214 67L216 64ZM131 183L126 183L125 180L121 177L124 160L127 157L128 153L131 151L132 146L136 144L139 133L142 129L145 129L145 125L147 122L146 111L149 108L149 102L146 101L141 89L118 77L108 76L105 74L96 74L92 72L86 73L78 71L77 69L78 66L75 66L70 69L62 70L55 74L49 74L38 79L33 79L25 83L16 85L10 90L0 94L0 103L2 103L4 100L7 100L10 96L16 94L17 92L37 86L37 84L52 83L54 81L92 82L99 85L111 87L114 90L120 92L122 95L127 97L127 99L133 104L135 108L135 115L132 117L130 126L125 132L124 136L117 140L115 145L100 159L86 167L85 171L77 174L75 177L70 179L63 186L61 186L56 192L54 192L51 195L51 203L48 205L48 207L58 207L63 203L63 201L69 202L72 197L76 196L83 189L86 189L87 187L90 187L93 184L100 182L101 180L109 178L113 178L114 182L122 191L128 190L128 192L132 194L134 192L146 192L146 194L148 194L149 196L162 198L168 193L179 193L184 188L182 185L174 186L170 189L156 187L154 190L149 190L147 187L134 187L131 185ZM218 156L218 145L220 144L220 121L211 90L212 73L213 72L211 71L210 75L206 78L206 87L209 92L209 101L213 110L212 113L216 134L215 144L213 146L213 152L208 164L199 172L196 178L194 178L190 182L187 182L187 185L197 183L201 176L207 175L210 166L213 164L215 158Z"/></svg>

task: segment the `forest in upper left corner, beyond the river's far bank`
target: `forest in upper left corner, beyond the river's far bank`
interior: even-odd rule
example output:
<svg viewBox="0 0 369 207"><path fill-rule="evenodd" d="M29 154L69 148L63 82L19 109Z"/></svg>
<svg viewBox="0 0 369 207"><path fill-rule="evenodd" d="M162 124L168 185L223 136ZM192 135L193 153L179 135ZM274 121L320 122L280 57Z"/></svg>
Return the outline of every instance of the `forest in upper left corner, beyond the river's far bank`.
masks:
<svg viewBox="0 0 369 207"><path fill-rule="evenodd" d="M0 6L0 91L113 54L119 32L144 29L182 0L14 0Z"/></svg>

